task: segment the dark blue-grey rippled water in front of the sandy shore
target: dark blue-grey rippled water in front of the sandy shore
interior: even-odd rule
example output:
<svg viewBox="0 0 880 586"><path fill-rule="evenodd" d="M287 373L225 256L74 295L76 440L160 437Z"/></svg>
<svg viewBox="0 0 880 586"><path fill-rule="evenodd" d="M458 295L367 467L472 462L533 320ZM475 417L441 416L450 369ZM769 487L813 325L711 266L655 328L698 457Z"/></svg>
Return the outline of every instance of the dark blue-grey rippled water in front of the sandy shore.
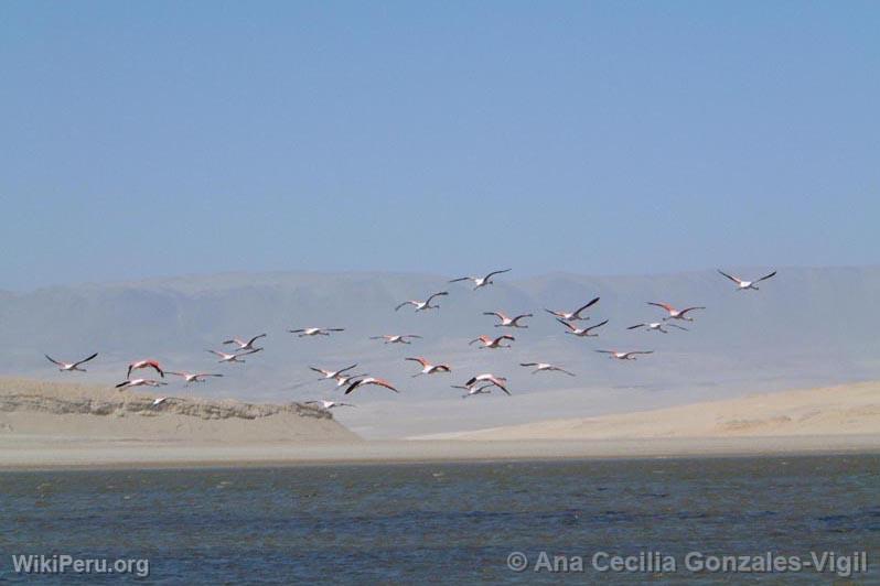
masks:
<svg viewBox="0 0 880 586"><path fill-rule="evenodd" d="M89 583L828 583L693 574L684 556L858 550L869 572L852 579L871 584L880 456L6 473L0 527L11 582L60 580L12 571L12 554L54 553L149 560L147 578ZM513 551L527 571L507 568ZM534 572L540 551L582 572ZM600 551L659 552L677 571L600 573Z"/></svg>

